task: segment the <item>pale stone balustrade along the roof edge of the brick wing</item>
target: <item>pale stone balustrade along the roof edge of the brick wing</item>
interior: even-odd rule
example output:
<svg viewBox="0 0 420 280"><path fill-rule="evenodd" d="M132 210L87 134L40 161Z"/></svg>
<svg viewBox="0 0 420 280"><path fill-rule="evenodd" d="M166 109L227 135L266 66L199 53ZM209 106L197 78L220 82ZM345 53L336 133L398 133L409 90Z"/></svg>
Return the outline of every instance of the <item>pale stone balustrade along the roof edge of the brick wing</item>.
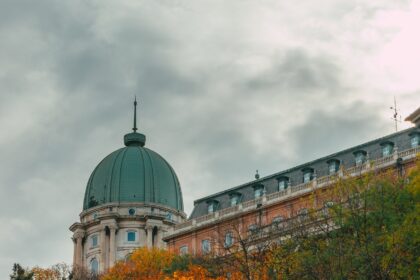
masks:
<svg viewBox="0 0 420 280"><path fill-rule="evenodd" d="M338 172L337 174L334 174L334 175L316 178L308 183L299 184L295 186L289 186L289 188L286 190L281 190L281 191L274 192L268 195L264 194L262 197L249 200L249 201L244 201L241 204L238 204L229 208L221 209L214 213L197 217L195 219L191 219L189 221L176 225L174 233L176 234L177 232L189 230L197 224L205 224L205 223L212 222L215 219L219 219L222 216L249 211L251 208L256 208L257 205L259 204L267 205L267 204L277 203L278 200L283 200L283 199L288 199L294 196L299 196L302 193L311 192L314 188L322 187L322 185L327 186L329 184L332 184L339 177L358 176L362 173L371 171L374 168L389 166L392 163L395 163L398 158L403 158L404 160L414 158L416 157L418 153L420 153L420 147L404 150L401 152L395 151L394 154L390 156L386 156L386 157L379 158L377 160L372 161L372 164L370 162L366 162L358 166L347 168L344 170L344 172Z"/></svg>

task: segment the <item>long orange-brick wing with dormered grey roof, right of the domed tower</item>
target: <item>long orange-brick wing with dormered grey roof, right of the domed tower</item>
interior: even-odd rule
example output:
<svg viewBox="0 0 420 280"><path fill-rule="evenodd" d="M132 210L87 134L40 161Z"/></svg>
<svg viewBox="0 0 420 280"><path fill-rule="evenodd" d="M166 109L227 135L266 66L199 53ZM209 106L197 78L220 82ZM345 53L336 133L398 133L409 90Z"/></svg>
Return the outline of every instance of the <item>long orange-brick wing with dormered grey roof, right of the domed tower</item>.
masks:
<svg viewBox="0 0 420 280"><path fill-rule="evenodd" d="M334 203L327 190L339 178L393 169L404 175L420 153L420 108L407 119L415 127L197 199L189 219L164 237L178 254L224 255L235 239L287 236L309 209ZM246 239L244 239L244 236Z"/></svg>

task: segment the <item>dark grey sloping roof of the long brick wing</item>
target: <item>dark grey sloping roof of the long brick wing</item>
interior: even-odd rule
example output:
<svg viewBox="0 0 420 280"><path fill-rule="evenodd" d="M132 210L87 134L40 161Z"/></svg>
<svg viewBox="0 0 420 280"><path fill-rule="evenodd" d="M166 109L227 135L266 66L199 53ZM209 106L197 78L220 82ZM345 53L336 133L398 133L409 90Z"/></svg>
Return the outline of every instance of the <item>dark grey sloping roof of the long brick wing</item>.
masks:
<svg viewBox="0 0 420 280"><path fill-rule="evenodd" d="M232 192L237 192L242 195L242 201L254 199L254 186L257 184L264 185L266 194L274 193L278 191L278 181L280 177L288 177L290 185L297 185L303 182L303 172L302 170L307 168L313 168L317 177L322 177L328 175L329 168L328 162L331 159L336 159L340 162L344 168L349 168L355 165L355 156L354 152L364 151L366 152L369 159L376 159L382 157L382 147L381 144L386 142L391 142L394 144L394 147L399 150L408 149L410 147L410 138L413 132L420 131L418 128L409 128L403 131L399 131L354 147L349 149L342 150L340 152L330 154L328 156L306 162L304 164L286 169L265 177L262 177L258 180L253 180L239 186L229 188L227 190L202 197L194 201L194 209L190 215L190 219L200 217L207 214L207 201L217 200L219 202L219 209L228 208L231 206L229 194Z"/></svg>

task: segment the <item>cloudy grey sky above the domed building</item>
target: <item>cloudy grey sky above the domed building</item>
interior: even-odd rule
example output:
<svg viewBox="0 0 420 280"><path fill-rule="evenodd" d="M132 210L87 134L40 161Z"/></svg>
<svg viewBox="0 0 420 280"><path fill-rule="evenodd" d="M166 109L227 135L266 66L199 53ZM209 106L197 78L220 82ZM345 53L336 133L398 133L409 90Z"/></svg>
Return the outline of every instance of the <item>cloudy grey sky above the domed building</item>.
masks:
<svg viewBox="0 0 420 280"><path fill-rule="evenodd" d="M420 1L0 0L0 278L71 263L87 180L146 146L193 201L395 131Z"/></svg>

